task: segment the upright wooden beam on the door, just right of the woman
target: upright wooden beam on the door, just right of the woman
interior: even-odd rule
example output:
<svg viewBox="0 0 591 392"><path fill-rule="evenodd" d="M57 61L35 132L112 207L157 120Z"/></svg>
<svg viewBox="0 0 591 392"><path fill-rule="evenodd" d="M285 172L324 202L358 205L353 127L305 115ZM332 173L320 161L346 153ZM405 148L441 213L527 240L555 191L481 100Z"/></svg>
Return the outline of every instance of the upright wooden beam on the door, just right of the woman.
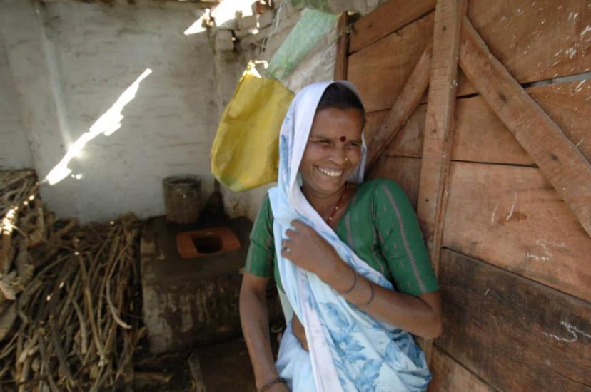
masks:
<svg viewBox="0 0 591 392"><path fill-rule="evenodd" d="M466 12L463 0L438 0L433 28L433 62L429 82L423 140L423 161L417 200L417 216L431 256L435 274L439 270L445 192L451 160L455 91L458 77L460 24ZM427 361L433 341L423 344Z"/></svg>

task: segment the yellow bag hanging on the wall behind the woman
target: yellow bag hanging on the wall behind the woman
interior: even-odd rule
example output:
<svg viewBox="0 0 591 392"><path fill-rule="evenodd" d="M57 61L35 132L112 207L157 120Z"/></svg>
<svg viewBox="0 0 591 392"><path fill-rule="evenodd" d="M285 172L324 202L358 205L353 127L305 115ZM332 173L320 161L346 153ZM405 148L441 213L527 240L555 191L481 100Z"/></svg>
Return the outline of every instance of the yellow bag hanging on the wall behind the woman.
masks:
<svg viewBox="0 0 591 392"><path fill-rule="evenodd" d="M241 192L277 180L279 128L291 100L281 82L248 64L211 147L211 172L221 184Z"/></svg>

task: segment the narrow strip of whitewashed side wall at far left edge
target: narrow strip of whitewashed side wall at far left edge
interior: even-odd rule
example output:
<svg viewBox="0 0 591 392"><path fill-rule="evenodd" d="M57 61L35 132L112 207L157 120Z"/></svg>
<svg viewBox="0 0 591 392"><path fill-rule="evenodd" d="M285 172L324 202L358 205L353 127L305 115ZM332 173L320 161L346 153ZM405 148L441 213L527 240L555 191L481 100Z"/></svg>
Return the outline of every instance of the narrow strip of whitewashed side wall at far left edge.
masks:
<svg viewBox="0 0 591 392"><path fill-rule="evenodd" d="M6 46L0 36L0 168L33 167L26 140L21 94L10 71Z"/></svg>

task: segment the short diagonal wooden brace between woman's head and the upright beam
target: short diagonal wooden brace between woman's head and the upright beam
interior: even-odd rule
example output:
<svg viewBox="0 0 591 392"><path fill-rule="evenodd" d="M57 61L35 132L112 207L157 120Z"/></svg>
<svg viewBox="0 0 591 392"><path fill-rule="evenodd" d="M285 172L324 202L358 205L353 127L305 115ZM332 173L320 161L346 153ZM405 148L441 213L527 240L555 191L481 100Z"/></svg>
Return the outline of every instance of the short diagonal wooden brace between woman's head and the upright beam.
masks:
<svg viewBox="0 0 591 392"><path fill-rule="evenodd" d="M380 153L388 146L404 123L420 104L425 90L429 86L429 70L431 68L431 45L429 44L420 56L413 72L406 81L403 90L380 129L374 133L368 143L368 160L365 170L370 170L371 165L379 157Z"/></svg>

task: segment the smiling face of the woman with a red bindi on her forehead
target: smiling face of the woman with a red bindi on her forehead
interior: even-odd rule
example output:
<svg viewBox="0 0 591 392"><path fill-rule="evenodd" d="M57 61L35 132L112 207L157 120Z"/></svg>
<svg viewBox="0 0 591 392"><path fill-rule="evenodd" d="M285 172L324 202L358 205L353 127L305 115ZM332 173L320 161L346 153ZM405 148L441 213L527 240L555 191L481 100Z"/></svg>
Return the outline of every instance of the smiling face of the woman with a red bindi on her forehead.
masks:
<svg viewBox="0 0 591 392"><path fill-rule="evenodd" d="M363 117L356 109L325 108L314 116L300 174L307 192L338 192L361 159Z"/></svg>

